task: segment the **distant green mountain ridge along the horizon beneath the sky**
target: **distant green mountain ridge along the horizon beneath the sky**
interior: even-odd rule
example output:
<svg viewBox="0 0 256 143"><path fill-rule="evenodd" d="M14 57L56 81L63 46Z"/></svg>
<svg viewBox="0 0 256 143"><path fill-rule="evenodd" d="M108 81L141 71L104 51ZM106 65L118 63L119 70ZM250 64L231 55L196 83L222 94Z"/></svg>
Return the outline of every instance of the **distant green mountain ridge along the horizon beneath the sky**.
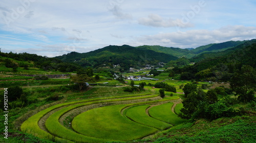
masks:
<svg viewBox="0 0 256 143"><path fill-rule="evenodd" d="M225 54L228 49L232 49L238 45L244 44L247 41L227 41L217 44L208 44L197 47L195 49L182 49L163 46L143 45L133 47L130 45L115 46L109 45L87 53L71 52L56 56L63 62L77 63L83 67L102 67L120 65L125 70L130 67L143 67L146 64L157 65L160 62L168 63L172 60L185 57L190 61L199 62L208 56Z"/></svg>

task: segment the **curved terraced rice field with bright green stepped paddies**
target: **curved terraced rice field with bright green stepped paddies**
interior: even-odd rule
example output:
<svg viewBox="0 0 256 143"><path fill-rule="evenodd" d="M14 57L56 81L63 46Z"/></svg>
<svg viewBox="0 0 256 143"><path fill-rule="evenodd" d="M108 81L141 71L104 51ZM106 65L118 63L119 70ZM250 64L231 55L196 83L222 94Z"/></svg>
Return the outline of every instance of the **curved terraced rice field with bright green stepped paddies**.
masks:
<svg viewBox="0 0 256 143"><path fill-rule="evenodd" d="M62 103L39 111L20 128L58 142L140 139L186 122L172 112L172 101L180 100L175 96L162 99L154 94L136 94Z"/></svg>

